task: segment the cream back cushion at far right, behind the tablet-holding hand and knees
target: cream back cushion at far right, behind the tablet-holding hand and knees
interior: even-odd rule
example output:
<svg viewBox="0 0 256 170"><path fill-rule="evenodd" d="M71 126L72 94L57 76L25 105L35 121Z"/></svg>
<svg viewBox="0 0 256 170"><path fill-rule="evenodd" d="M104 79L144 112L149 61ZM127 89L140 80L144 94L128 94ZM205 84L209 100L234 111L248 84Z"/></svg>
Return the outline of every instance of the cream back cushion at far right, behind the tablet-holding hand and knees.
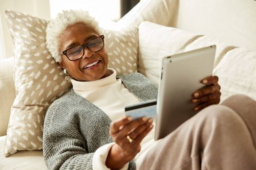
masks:
<svg viewBox="0 0 256 170"><path fill-rule="evenodd" d="M256 100L256 51L234 48L214 69L219 76L222 101L233 94L245 94Z"/></svg>

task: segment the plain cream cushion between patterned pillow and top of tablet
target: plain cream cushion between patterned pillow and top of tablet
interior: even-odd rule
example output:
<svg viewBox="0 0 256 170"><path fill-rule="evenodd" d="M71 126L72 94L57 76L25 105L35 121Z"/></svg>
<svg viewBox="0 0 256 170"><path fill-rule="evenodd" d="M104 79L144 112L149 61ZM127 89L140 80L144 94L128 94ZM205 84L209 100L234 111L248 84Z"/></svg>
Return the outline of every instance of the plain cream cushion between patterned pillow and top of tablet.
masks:
<svg viewBox="0 0 256 170"><path fill-rule="evenodd" d="M184 50L187 42L200 37L172 27L144 21L139 26L138 71L158 84L163 57Z"/></svg>

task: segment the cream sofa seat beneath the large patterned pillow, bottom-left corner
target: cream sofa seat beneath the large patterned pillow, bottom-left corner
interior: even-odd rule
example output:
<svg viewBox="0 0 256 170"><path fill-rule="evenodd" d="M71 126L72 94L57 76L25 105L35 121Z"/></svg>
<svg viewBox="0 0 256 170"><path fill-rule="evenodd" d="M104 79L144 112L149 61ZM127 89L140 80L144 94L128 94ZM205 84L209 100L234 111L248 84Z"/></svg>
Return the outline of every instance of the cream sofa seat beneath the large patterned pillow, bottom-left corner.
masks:
<svg viewBox="0 0 256 170"><path fill-rule="evenodd" d="M4 145L6 136L0 137L0 169L2 170L46 170L42 150L38 151L20 151L9 157L4 156Z"/></svg>

